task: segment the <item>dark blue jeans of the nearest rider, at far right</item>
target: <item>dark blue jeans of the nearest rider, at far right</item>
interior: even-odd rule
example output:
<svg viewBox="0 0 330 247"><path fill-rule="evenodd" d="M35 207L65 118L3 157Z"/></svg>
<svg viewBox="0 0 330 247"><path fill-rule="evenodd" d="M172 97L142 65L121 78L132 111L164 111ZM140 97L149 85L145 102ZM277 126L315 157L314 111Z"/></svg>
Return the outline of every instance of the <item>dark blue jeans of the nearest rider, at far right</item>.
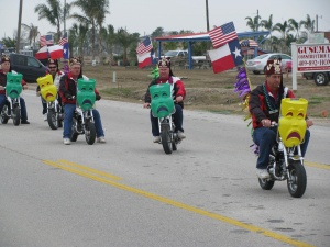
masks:
<svg viewBox="0 0 330 247"><path fill-rule="evenodd" d="M256 168L266 169L270 164L270 154L276 143L277 127L257 127L253 131L253 142L258 146ZM305 142L300 145L302 157L306 154L310 138L309 130L306 130Z"/></svg>

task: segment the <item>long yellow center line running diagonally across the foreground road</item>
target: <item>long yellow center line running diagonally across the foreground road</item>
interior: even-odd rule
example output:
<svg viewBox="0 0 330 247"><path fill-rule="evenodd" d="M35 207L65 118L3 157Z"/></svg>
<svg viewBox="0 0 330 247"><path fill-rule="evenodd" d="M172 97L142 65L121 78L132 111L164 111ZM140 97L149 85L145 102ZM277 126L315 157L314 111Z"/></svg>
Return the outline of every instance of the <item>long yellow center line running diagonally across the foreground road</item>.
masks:
<svg viewBox="0 0 330 247"><path fill-rule="evenodd" d="M218 220L218 221L221 221L221 222L224 222L224 223L228 223L228 224L248 229L250 232L254 232L254 233L274 238L274 239L283 242L283 243L287 243L287 244L293 245L293 246L299 246L299 247L312 247L314 246L314 245L310 245L310 244L307 244L307 243L304 243L304 242L299 242L299 240L289 238L285 235L280 235L280 234L277 234L277 233L274 233L274 232L271 232L271 231L267 231L267 229L264 229L264 228L251 225L251 224L245 224L245 223L237 221L234 218L230 218L230 217L227 217L227 216L223 216L223 215L220 215L220 214L211 213L211 212L208 212L208 211L202 210L202 209L190 206L188 204L184 204L184 203L174 201L172 199L167 199L167 198L164 198L164 197L161 197L161 195L157 195L157 194L150 193L147 191L143 191L143 190L140 190L140 189L136 189L136 188L133 188L133 187L124 186L122 183L102 178L105 176L97 177L95 175L101 175L101 173L106 173L106 172L97 171L95 169L91 169L91 168L88 168L88 167L85 167L85 166L81 166L81 165L78 165L78 164L73 164L73 162L69 162L69 161L66 161L66 160L59 160L59 164L51 161L51 160L43 160L43 162L46 164L46 165L57 167L57 168L61 168L63 170L79 175L79 176L82 176L85 178L89 178L89 179L92 179L95 181L102 182L102 183L116 187L116 188L124 190L124 191L129 191L129 192L142 195L142 197L145 197L145 198L148 198L148 199L152 199L152 200L155 200L155 201L158 201L158 202L172 205L172 206L176 206L178 209L183 209L183 210L196 213L196 214L200 214L200 215L204 215L204 216L207 216L207 217L210 217L210 218L215 218L215 220ZM68 165L68 166L64 166L64 165L61 165L61 164L65 164L65 165ZM95 173L95 175L91 175L89 172L85 172L85 171L81 171L81 170L78 170L78 169L75 169L75 168L70 168L69 166L75 167L75 168L82 168L82 170L86 170L86 171L94 171L92 173ZM112 177L112 175L109 175L109 173L107 173L107 175L109 177ZM113 177L118 178L116 176L113 176Z"/></svg>

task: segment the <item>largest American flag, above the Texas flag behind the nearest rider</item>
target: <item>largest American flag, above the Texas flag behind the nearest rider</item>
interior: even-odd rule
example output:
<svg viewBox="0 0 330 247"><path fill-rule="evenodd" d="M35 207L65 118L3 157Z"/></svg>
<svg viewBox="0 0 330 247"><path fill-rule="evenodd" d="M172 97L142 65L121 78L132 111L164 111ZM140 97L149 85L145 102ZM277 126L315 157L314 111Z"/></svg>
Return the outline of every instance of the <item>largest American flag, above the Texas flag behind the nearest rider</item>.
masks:
<svg viewBox="0 0 330 247"><path fill-rule="evenodd" d="M238 38L233 22L218 26L209 32L213 48L218 48L228 42Z"/></svg>

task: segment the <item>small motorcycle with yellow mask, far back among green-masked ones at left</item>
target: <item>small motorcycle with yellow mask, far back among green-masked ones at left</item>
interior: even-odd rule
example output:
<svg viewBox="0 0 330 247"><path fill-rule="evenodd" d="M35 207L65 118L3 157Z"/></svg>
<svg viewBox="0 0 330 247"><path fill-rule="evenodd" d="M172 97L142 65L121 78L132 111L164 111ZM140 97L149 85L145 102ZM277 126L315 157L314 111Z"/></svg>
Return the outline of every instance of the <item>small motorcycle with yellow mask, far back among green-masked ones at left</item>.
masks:
<svg viewBox="0 0 330 247"><path fill-rule="evenodd" d="M46 75L36 79L41 88L41 96L47 103L47 122L52 130L63 126L63 108L58 102L57 88L54 85L53 76Z"/></svg>

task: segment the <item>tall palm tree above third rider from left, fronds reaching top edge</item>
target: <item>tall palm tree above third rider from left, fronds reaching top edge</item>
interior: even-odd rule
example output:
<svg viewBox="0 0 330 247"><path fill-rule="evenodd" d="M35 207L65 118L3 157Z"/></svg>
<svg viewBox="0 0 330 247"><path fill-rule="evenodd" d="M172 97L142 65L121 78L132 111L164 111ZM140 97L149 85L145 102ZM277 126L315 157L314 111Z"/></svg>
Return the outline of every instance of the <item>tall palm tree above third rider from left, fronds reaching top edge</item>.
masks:
<svg viewBox="0 0 330 247"><path fill-rule="evenodd" d="M84 12L84 15L74 13L70 15L70 18L74 18L82 23L88 23L91 26L92 59L95 59L97 25L102 25L102 22L105 21L106 13L108 13L106 9L109 7L109 0L76 0L72 4L80 8L80 10Z"/></svg>

